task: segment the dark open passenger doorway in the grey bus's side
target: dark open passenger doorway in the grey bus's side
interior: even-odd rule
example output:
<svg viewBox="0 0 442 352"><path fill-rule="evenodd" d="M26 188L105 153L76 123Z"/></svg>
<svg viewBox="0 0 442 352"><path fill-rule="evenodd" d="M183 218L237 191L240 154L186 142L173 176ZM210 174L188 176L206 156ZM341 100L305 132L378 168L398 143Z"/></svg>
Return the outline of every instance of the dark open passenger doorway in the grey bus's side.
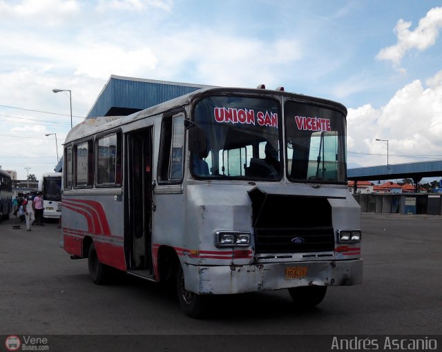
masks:
<svg viewBox="0 0 442 352"><path fill-rule="evenodd" d="M153 275L152 268L152 128L128 133L126 139L126 212L130 269ZM141 274L141 273L140 273Z"/></svg>

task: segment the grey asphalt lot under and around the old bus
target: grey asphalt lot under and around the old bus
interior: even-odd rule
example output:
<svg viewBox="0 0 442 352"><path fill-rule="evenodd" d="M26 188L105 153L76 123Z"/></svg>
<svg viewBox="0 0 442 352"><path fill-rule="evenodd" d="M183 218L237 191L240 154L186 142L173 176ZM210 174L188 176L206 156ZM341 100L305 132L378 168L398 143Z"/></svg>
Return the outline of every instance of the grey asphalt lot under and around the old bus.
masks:
<svg viewBox="0 0 442 352"><path fill-rule="evenodd" d="M86 260L59 248L57 224L12 224L0 224L0 335L442 333L442 217L363 214L363 284L329 287L313 311L271 291L221 297L205 320L152 282L93 284Z"/></svg>

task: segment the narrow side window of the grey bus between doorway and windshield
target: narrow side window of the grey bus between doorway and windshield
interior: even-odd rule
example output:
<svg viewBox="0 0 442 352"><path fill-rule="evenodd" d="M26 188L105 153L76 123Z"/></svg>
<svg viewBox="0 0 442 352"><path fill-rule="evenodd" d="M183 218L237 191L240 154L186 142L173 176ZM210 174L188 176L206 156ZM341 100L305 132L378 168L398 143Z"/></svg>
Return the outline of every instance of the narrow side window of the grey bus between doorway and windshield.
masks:
<svg viewBox="0 0 442 352"><path fill-rule="evenodd" d="M183 176L184 115L166 117L162 124L160 182L179 182Z"/></svg>

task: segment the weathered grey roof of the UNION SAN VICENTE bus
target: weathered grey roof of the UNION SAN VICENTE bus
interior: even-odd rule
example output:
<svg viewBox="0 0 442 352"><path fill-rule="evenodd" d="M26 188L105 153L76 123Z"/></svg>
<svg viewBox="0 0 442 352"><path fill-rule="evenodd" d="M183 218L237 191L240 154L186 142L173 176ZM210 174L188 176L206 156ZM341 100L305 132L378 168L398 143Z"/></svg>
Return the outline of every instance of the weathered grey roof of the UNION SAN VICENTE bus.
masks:
<svg viewBox="0 0 442 352"><path fill-rule="evenodd" d="M195 90L195 92L191 92L186 95L182 95L181 97L177 97L164 103L152 106L151 108L146 108L144 110L138 111L137 113L133 113L127 116L105 116L105 117L95 117L84 119L80 124L77 124L72 130L69 131L68 135L64 143L68 143L70 141L74 141L77 139L81 139L83 137L87 137L90 135L95 135L100 132L104 132L106 130L116 128L121 126L122 124L128 124L137 119L142 119L144 117L157 115L167 110L171 110L177 106L184 106L189 104L191 101L203 97L204 95L209 94L229 94L229 93L241 93L241 94L249 94L249 95L260 95L261 97L291 97L298 101L305 101L309 103L316 104L324 104L328 106L332 106L336 110L340 110L344 116L347 115L347 108L336 101L331 101L327 99L317 98L317 97L309 97L307 95L300 95L293 92L285 92L283 90L269 90L269 89L259 89L259 88L228 88L228 87L209 87L202 88L199 90Z"/></svg>

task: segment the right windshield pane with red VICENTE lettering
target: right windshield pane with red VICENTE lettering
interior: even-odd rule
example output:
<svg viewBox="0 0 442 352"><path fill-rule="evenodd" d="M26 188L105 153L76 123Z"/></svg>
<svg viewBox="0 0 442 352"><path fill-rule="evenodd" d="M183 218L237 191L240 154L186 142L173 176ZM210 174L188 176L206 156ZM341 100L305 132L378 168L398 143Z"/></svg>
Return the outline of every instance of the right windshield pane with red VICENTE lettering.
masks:
<svg viewBox="0 0 442 352"><path fill-rule="evenodd" d="M346 182L345 132L343 113L287 101L287 178L292 182Z"/></svg>

